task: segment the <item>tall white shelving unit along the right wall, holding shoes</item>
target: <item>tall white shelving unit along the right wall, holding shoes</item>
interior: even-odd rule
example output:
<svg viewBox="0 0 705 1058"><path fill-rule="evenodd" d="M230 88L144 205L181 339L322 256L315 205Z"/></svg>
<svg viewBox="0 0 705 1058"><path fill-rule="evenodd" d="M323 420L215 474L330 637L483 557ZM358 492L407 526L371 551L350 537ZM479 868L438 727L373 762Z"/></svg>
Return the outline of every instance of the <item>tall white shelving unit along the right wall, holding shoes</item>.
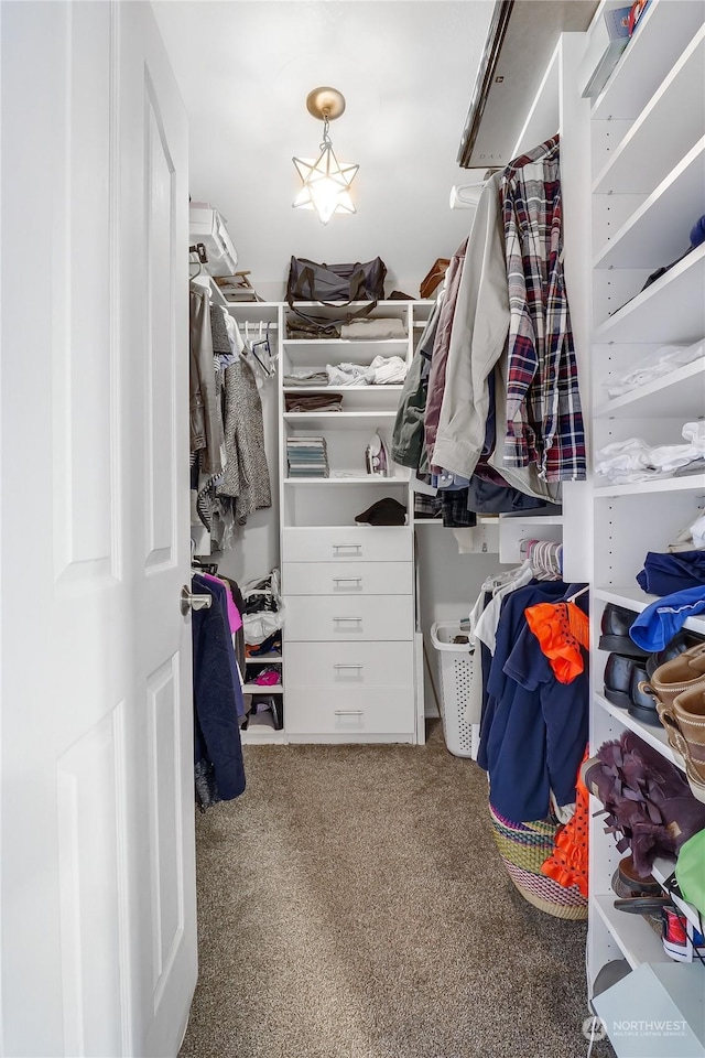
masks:
<svg viewBox="0 0 705 1058"><path fill-rule="evenodd" d="M684 252L692 226L705 214L704 22L699 0L651 0L593 106L594 450L631 436L681 443L683 424L705 414L702 359L611 400L605 388L660 346L691 345L705 335L705 246L641 290L651 272ZM594 479L593 748L631 728L683 766L660 726L641 724L606 700L607 654L597 643L606 603L641 612L652 602L634 581L647 551L665 550L704 504L703 474L621 486ZM705 633L705 620L691 619L687 627ZM669 1055L705 1054L705 968L672 962L639 916L615 910L610 883L620 859L601 818L594 820L589 976L594 981L606 962L618 958L636 971L596 1001L598 1013L608 1029L614 1018L682 1019L684 1036L665 1041ZM655 873L664 877L671 870L660 863ZM611 1041L618 1055L663 1058L665 1052L663 1036L616 1034Z"/></svg>

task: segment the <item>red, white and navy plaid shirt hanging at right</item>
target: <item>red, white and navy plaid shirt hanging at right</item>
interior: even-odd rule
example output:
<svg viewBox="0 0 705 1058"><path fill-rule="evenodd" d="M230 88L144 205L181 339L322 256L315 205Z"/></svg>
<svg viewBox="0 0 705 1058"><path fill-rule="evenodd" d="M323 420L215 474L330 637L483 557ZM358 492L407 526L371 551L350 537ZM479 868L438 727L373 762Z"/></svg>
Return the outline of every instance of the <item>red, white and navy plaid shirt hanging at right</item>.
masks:
<svg viewBox="0 0 705 1058"><path fill-rule="evenodd" d="M558 137L502 173L510 324L507 466L536 463L546 482L585 478L577 363L563 278Z"/></svg>

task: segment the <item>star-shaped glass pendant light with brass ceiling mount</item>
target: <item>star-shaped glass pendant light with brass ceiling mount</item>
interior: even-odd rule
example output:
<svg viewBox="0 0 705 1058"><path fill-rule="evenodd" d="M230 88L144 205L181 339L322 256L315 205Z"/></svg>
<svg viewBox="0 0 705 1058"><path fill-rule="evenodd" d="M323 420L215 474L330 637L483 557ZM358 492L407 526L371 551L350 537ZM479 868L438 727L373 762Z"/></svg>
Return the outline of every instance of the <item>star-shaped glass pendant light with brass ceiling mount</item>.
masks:
<svg viewBox="0 0 705 1058"><path fill-rule="evenodd" d="M306 109L323 121L323 142L317 159L293 158L303 186L292 205L294 208L315 209L318 219L327 224L335 213L356 213L349 187L359 165L339 162L333 153L328 134L330 121L345 110L345 97L337 88L314 88L306 96Z"/></svg>

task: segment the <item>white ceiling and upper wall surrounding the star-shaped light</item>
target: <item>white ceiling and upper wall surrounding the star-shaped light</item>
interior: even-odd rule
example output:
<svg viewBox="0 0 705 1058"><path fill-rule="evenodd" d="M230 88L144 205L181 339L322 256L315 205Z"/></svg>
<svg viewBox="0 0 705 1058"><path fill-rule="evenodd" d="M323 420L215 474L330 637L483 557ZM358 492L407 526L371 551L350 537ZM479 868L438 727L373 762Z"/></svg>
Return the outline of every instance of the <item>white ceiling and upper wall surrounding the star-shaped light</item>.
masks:
<svg viewBox="0 0 705 1058"><path fill-rule="evenodd" d="M292 253L328 262L380 255L392 288L417 295L470 214L448 207L467 182L456 155L494 0L156 0L189 119L191 194L228 219L239 267L282 296ZM333 85L338 158L357 162L357 214L322 225L292 209L292 156L315 156L305 107Z"/></svg>

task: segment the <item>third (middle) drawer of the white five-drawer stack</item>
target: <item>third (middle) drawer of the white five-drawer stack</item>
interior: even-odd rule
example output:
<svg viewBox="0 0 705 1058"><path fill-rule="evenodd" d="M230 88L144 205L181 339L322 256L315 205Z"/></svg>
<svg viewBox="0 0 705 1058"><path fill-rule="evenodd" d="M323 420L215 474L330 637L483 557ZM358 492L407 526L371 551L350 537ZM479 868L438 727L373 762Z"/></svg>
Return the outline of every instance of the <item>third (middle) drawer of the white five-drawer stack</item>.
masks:
<svg viewBox="0 0 705 1058"><path fill-rule="evenodd" d="M288 643L412 639L412 595L285 595Z"/></svg>

